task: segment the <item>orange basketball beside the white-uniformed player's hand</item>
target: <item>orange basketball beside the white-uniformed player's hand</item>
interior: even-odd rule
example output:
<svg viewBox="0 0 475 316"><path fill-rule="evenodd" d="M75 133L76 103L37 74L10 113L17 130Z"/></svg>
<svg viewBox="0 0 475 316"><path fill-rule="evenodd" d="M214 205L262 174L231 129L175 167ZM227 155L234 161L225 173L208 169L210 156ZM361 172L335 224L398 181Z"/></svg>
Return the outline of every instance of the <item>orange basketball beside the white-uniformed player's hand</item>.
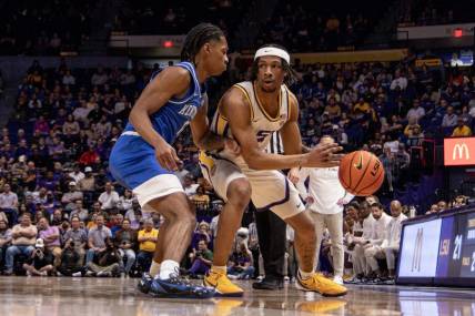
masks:
<svg viewBox="0 0 475 316"><path fill-rule="evenodd" d="M356 151L342 159L340 182L353 195L367 196L376 192L384 181L384 169L374 154Z"/></svg>

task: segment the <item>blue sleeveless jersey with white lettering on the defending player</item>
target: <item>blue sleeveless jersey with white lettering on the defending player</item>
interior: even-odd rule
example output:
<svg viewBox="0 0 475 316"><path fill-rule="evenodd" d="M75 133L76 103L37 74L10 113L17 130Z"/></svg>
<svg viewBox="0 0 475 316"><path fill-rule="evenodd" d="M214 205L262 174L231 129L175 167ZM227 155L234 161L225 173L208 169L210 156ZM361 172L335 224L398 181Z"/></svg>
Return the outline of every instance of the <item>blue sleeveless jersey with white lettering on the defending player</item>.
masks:
<svg viewBox="0 0 475 316"><path fill-rule="evenodd" d="M194 118L198 109L203 104L205 91L202 91L198 82L194 65L190 62L180 62L176 67L186 69L191 75L190 89L181 99L169 100L160 110L150 116L153 129L169 143L173 143L178 134L185 125ZM156 77L160 71L152 74L150 82ZM149 84L150 84L149 82ZM125 132L135 131L129 122L125 126Z"/></svg>

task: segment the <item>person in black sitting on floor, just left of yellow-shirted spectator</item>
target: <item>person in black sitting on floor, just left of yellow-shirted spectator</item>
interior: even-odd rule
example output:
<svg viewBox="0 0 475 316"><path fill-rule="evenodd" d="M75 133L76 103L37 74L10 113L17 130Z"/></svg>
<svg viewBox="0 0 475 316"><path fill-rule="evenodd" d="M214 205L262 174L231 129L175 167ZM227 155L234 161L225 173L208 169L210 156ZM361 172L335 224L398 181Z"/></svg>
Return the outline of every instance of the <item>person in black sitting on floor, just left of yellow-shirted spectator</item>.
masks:
<svg viewBox="0 0 475 316"><path fill-rule="evenodd" d="M99 253L97 263L90 262L85 265L87 275L92 276L118 276L120 274L120 261L122 259L118 247L111 237L105 238L105 251Z"/></svg>

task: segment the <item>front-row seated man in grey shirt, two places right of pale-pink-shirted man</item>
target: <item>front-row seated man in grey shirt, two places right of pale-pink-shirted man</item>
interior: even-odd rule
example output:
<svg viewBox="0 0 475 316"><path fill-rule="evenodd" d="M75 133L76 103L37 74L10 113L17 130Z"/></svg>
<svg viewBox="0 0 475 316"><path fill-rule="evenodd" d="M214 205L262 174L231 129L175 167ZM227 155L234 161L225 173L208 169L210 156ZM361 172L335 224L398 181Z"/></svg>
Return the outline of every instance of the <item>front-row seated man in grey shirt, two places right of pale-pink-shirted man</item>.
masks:
<svg viewBox="0 0 475 316"><path fill-rule="evenodd" d="M74 256L77 259L77 265L82 267L84 263L85 256L85 245L88 243L88 233L84 228L80 227L81 221L77 216L71 216L71 228L65 232L63 236L64 248L70 248L73 252L70 252L65 256L68 256L68 263L65 265L61 265L65 269L71 269L71 258ZM78 256L75 256L75 253ZM74 273L74 272L72 272Z"/></svg>

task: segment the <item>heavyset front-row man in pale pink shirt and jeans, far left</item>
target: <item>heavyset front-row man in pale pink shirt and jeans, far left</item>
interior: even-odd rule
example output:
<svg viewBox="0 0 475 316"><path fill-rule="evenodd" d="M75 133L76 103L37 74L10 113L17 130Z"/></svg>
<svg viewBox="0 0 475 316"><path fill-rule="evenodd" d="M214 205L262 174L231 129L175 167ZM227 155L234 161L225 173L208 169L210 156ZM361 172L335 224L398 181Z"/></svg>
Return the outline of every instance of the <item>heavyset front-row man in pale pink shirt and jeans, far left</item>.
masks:
<svg viewBox="0 0 475 316"><path fill-rule="evenodd" d="M6 255L6 275L13 274L13 263L17 255L31 256L37 243L37 234L38 230L31 224L30 214L23 214L20 224L14 225L12 230L12 245L8 247Z"/></svg>

